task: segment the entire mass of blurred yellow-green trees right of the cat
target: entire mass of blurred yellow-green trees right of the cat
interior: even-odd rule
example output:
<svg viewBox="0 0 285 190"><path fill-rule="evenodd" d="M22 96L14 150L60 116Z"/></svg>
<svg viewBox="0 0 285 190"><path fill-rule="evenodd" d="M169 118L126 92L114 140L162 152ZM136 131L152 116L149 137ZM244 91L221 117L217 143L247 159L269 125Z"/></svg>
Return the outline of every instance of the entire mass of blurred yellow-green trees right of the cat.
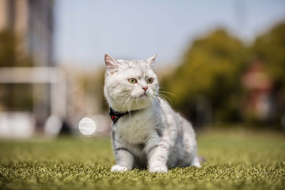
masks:
<svg viewBox="0 0 285 190"><path fill-rule="evenodd" d="M207 102L204 109L213 112L214 122L240 122L242 117L246 120L241 113L243 98L248 96L242 75L252 57L264 64L264 72L270 76L275 106L271 122L279 123L284 115L285 22L259 36L249 48L224 30L195 40L161 87L177 97L169 96L173 107L192 121L199 105Z"/></svg>

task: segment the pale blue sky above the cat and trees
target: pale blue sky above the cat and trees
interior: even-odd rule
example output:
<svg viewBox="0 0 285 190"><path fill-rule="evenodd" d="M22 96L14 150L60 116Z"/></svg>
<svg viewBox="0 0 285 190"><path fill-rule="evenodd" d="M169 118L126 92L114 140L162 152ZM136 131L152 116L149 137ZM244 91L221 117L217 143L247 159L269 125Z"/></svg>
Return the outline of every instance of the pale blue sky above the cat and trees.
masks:
<svg viewBox="0 0 285 190"><path fill-rule="evenodd" d="M282 0L55 1L54 55L59 65L104 66L115 59L177 64L197 37L225 28L251 42L285 20Z"/></svg>

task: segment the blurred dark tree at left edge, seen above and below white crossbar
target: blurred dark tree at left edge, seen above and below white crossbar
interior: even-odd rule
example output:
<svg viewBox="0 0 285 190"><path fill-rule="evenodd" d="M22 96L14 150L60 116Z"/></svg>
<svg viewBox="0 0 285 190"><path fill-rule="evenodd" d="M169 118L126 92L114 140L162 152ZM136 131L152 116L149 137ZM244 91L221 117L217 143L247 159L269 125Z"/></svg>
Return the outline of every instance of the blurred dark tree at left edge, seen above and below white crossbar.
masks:
<svg viewBox="0 0 285 190"><path fill-rule="evenodd" d="M0 32L0 69L1 67L33 66L31 59L19 51L20 40L9 30ZM1 84L0 110L31 110L31 84Z"/></svg>

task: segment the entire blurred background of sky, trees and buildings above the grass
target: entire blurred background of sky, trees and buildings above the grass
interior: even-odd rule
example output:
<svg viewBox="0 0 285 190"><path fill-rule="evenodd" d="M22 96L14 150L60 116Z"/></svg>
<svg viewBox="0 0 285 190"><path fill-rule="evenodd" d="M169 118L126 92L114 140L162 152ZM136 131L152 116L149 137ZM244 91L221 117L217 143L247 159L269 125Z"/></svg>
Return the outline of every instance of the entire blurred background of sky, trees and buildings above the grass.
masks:
<svg viewBox="0 0 285 190"><path fill-rule="evenodd" d="M108 135L105 53L195 128L285 129L285 1L0 0L0 137Z"/></svg>

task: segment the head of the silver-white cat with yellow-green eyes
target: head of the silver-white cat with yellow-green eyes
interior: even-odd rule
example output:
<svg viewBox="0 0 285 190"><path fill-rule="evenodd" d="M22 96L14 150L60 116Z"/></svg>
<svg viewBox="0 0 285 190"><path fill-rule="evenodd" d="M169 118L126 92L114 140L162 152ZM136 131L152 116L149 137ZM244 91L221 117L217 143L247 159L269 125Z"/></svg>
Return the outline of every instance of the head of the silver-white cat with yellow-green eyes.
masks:
<svg viewBox="0 0 285 190"><path fill-rule="evenodd" d="M114 60L105 54L104 95L115 111L148 107L156 99L158 79L152 69L157 54L146 60Z"/></svg>

